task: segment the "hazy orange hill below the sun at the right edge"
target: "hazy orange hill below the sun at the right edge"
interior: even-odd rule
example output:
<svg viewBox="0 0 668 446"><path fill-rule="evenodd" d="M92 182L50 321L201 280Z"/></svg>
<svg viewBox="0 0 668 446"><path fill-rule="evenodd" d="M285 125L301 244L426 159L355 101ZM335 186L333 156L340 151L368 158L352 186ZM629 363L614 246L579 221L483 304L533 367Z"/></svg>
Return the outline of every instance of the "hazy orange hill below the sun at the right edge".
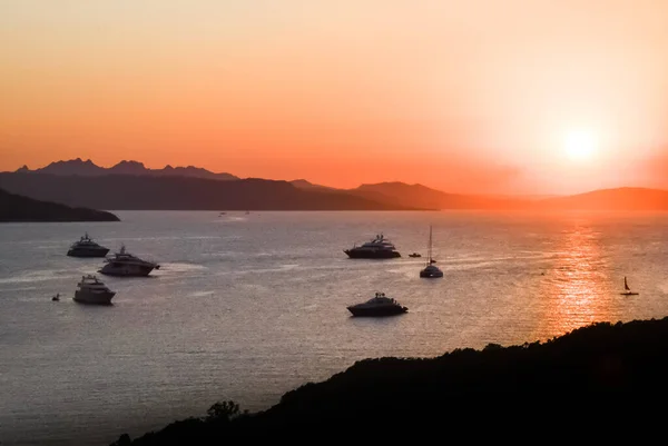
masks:
<svg viewBox="0 0 668 446"><path fill-rule="evenodd" d="M668 210L668 191L623 187L540 200L539 208L554 210Z"/></svg>

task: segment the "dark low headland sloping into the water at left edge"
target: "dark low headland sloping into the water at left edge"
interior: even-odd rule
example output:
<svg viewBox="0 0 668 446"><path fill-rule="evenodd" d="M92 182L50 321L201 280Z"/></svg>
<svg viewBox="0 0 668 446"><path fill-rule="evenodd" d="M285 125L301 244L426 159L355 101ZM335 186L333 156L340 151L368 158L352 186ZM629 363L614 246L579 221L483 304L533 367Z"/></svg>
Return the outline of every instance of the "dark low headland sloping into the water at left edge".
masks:
<svg viewBox="0 0 668 446"><path fill-rule="evenodd" d="M119 221L119 219L111 212L71 208L9 194L0 189L0 221Z"/></svg>

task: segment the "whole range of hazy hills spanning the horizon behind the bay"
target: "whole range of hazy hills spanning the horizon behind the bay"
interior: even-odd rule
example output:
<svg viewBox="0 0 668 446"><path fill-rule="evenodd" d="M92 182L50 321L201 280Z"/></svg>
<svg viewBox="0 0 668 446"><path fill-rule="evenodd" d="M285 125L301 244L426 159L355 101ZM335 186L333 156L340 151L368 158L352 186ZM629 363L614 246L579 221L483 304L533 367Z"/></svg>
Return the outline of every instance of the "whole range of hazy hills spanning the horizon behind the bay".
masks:
<svg viewBox="0 0 668 446"><path fill-rule="evenodd" d="M0 187L39 200L116 210L668 210L668 191L647 188L533 199L449 194L401 181L336 189L305 179L239 178L193 166L148 169L121 161L102 168L79 158L1 172Z"/></svg>

